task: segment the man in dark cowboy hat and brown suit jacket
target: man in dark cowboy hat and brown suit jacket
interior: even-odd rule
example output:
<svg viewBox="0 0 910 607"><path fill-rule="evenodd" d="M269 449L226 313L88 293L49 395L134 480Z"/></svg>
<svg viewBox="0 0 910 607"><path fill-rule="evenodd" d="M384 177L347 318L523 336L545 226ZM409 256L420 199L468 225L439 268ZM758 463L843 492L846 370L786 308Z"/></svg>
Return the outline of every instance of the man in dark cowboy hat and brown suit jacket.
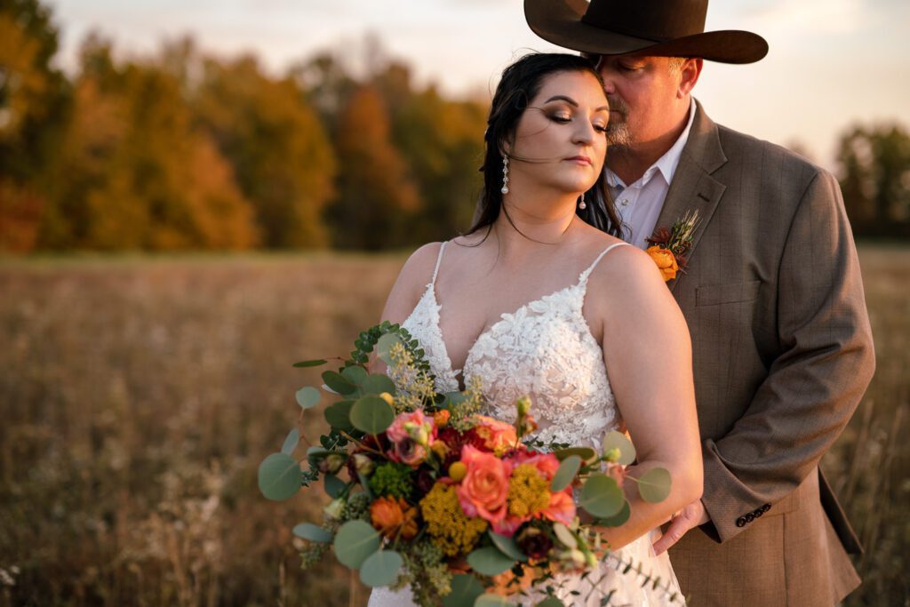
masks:
<svg viewBox="0 0 910 607"><path fill-rule="evenodd" d="M836 180L712 122L691 97L703 59L758 61L741 31L704 32L707 0L525 0L542 38L598 61L611 104L607 186L626 238L689 211L688 268L669 283L693 338L704 493L675 517L697 605L833 605L862 549L818 462L875 359ZM677 543L678 542L678 543Z"/></svg>

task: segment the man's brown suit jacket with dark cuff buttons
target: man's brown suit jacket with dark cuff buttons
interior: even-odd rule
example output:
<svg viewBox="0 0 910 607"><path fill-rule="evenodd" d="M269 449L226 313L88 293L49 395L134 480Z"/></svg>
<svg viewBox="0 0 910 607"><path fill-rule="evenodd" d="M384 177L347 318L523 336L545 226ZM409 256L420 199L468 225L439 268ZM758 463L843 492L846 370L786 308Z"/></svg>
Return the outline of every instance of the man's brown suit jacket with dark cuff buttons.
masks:
<svg viewBox="0 0 910 607"><path fill-rule="evenodd" d="M818 462L875 369L840 187L698 105L658 227L702 218L670 288L689 324L712 523L672 550L704 605L825 605L861 551Z"/></svg>

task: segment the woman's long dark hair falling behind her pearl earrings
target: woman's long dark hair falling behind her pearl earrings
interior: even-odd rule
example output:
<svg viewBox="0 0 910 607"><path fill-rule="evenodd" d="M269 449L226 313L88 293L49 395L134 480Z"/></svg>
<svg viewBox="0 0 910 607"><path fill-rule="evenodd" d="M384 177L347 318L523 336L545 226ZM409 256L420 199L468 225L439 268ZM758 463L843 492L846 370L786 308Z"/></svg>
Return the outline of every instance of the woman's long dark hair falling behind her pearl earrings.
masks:
<svg viewBox="0 0 910 607"><path fill-rule="evenodd" d="M544 78L560 72L587 72L603 85L601 75L591 62L577 55L534 53L521 57L502 72L490 105L487 132L483 136L486 147L483 166L480 167L483 171L483 189L474 223L467 234L491 226L499 218L500 212L504 212L511 223L509 213L502 207L502 157L509 156L503 144L515 134L521 115L531 99L540 92ZM622 221L603 189L603 172L593 187L585 192L584 199L587 202L586 208L576 209L576 215L591 226L622 238Z"/></svg>

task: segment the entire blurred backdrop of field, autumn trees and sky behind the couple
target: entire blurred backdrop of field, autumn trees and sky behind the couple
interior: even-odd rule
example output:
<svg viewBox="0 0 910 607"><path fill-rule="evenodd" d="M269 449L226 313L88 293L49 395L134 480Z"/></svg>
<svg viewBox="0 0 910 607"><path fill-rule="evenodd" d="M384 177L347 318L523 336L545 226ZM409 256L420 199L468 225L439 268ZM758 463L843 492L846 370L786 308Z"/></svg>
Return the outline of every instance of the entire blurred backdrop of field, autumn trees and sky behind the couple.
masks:
<svg viewBox="0 0 910 607"><path fill-rule="evenodd" d="M256 469L299 359L342 355L406 251L467 228L521 0L0 0L0 605L341 605ZM865 544L849 605L910 604L910 5L727 0L716 121L838 177L878 370L825 456ZM304 420L323 430L319 410ZM353 593L353 594L352 594Z"/></svg>

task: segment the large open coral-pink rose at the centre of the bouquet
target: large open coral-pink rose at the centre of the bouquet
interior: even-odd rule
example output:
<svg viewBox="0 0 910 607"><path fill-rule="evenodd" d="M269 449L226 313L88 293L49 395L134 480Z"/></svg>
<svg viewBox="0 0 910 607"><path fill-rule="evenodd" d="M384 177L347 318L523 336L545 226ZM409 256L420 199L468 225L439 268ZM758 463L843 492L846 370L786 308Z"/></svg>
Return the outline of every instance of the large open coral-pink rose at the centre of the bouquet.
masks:
<svg viewBox="0 0 910 607"><path fill-rule="evenodd" d="M470 445L461 449L461 461L468 468L458 487L461 510L492 523L502 521L506 515L511 466L492 453Z"/></svg>

